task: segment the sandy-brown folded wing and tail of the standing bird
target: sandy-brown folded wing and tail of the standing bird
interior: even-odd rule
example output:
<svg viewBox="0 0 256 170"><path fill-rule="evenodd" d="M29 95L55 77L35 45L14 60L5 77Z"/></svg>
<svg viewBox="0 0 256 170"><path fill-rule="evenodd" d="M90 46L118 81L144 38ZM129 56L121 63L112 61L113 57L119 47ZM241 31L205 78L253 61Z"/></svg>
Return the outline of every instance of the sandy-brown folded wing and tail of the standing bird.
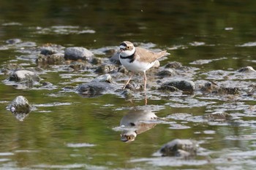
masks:
<svg viewBox="0 0 256 170"><path fill-rule="evenodd" d="M136 58L136 60L139 60L139 61L152 63L152 62L156 61L158 58L161 58L162 56L165 56L167 54L168 53L166 53L166 50L158 52L158 53L154 53L150 50L136 47L135 58Z"/></svg>

